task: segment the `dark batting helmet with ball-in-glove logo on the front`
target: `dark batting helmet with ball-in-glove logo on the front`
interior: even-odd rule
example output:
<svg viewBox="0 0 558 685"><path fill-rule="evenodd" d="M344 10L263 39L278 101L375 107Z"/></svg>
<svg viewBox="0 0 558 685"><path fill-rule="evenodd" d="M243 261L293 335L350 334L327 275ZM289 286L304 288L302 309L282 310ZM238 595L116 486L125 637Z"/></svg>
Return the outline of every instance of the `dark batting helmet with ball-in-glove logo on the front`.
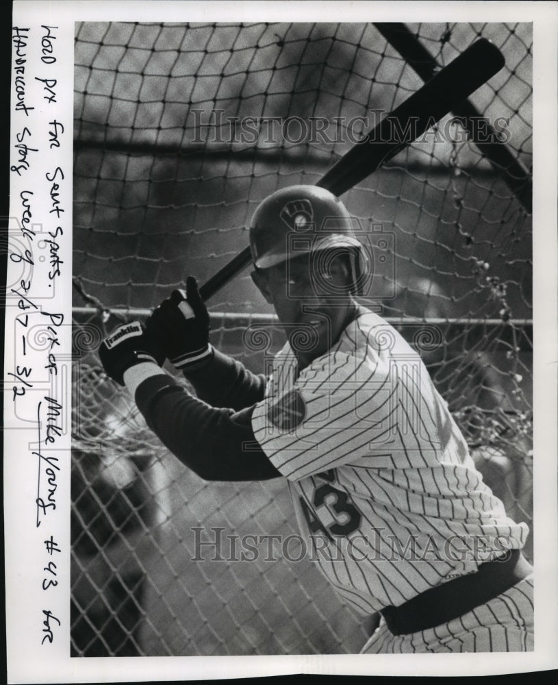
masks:
<svg viewBox="0 0 558 685"><path fill-rule="evenodd" d="M318 186L290 186L272 193L254 212L250 249L257 269L333 248L350 248L353 280L368 272L368 258L353 230L351 215L333 193Z"/></svg>

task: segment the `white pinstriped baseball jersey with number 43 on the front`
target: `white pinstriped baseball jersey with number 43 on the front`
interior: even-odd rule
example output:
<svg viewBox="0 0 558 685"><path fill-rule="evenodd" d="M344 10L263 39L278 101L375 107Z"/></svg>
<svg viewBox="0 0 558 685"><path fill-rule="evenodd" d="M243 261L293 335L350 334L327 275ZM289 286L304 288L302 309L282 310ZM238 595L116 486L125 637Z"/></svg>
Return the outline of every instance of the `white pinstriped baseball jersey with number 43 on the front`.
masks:
<svg viewBox="0 0 558 685"><path fill-rule="evenodd" d="M521 548L418 354L366 310L301 373L276 356L255 437L287 477L306 549L364 613Z"/></svg>

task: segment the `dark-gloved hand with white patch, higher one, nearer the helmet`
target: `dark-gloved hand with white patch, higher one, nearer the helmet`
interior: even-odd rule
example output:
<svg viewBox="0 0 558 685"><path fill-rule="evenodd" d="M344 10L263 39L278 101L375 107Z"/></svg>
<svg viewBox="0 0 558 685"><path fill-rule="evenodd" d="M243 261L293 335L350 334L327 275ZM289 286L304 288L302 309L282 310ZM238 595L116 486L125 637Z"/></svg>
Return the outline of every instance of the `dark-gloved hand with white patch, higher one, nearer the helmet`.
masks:
<svg viewBox="0 0 558 685"><path fill-rule="evenodd" d="M213 356L210 315L192 276L186 279L186 292L174 290L153 311L145 325L177 369L188 371Z"/></svg>

